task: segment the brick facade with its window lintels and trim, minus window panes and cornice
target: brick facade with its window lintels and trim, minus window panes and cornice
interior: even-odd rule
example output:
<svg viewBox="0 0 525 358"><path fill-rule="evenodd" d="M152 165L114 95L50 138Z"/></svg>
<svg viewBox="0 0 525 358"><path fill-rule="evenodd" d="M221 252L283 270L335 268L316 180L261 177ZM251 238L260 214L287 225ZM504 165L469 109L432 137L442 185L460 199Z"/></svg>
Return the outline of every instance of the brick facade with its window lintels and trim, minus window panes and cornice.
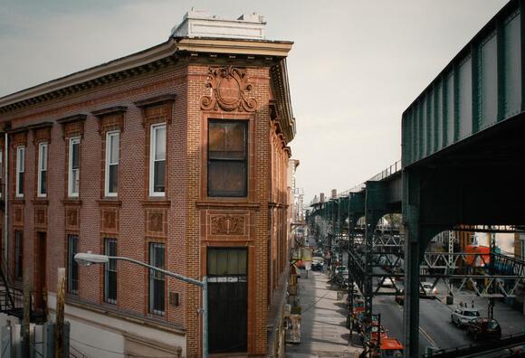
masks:
<svg viewBox="0 0 525 358"><path fill-rule="evenodd" d="M282 102L289 100L282 95L287 84L275 77L285 63L283 56L195 60L198 56L192 55L181 53L177 60L170 55L153 65L95 76L84 85L64 85L49 95L0 99L0 122L10 141L10 274L13 277L15 230L24 232L24 270L43 292L42 297L35 294L39 306L49 299L46 291L53 296L57 269L67 267L69 234L78 235L79 252L103 253L104 240L110 238L117 240L119 256L146 262L148 243L164 243L166 269L196 279L206 273L207 248L247 248L247 351L265 355L267 310L287 268L290 245L287 173L292 136L282 123L293 118L282 110L290 106ZM225 102L208 106L213 68L242 69L250 85L244 91L247 100L234 108L223 107ZM209 118L248 122L246 197L207 196ZM166 189L161 197L149 195L148 182L150 128L156 123L167 127ZM119 186L116 196L106 197L106 133L112 130L119 130ZM78 197L68 195L72 137L81 138ZM48 143L49 153L45 197L36 189L40 143ZM14 195L17 146L25 147L24 198ZM218 221L239 226L224 234L216 229ZM68 294L67 305L83 310L88 325L89 312L103 309L116 319L182 336L183 354L200 356L202 326L196 312L202 305L201 289L167 278L166 311L158 316L148 310L148 272L121 261L117 272L116 304L104 302L100 266L79 269L78 294ZM170 303L170 293L179 295L178 306Z"/></svg>

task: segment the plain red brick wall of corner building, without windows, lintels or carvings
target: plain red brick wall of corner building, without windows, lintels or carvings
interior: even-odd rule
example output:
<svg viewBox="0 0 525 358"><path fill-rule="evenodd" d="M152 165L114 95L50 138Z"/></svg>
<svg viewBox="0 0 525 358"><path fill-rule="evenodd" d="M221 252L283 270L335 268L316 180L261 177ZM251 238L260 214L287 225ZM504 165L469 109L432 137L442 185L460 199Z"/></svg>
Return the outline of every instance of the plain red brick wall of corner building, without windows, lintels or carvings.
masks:
<svg viewBox="0 0 525 358"><path fill-rule="evenodd" d="M63 125L54 123L48 160L47 200L33 202L36 195L37 145L33 131L27 132L25 149L25 197L12 203L23 210L24 268L33 275L35 205L47 207L47 287L55 291L57 269L66 266L66 234L78 232L79 250L102 252L106 237L118 240L119 256L148 261L148 242L166 243L167 269L200 279L205 274L207 246L242 246L249 250L248 350L253 355L266 353L267 306L279 275L287 265L286 254L286 174L288 155L282 137L271 125L270 68L249 67L252 89L249 97L256 99L253 113L217 110L206 112L200 99L208 95L208 66L181 61L178 65L143 73L126 80L110 82L95 89L86 89L17 109L2 115L0 121L11 121L12 127L43 121L54 122L74 114L87 114L81 137L80 197L69 201L67 194L67 155L69 142ZM148 121L143 126L142 111L134 102L163 94L176 94L167 124L167 193L166 198L148 198ZM120 133L119 194L103 198L105 134L100 132L100 119L91 112L102 108L127 106ZM243 118L249 120L249 187L248 197L240 200L215 200L205 194L205 123L207 118ZM271 127L272 126L272 127ZM21 135L20 135L21 136ZM20 137L19 136L19 137ZM20 139L20 138L19 138ZM14 198L14 146L11 146L11 198ZM212 202L218 203L212 203ZM272 209L269 209L269 201ZM228 202L224 205L221 202ZM230 202L234 202L233 204ZM13 206L12 206L13 208ZM78 228L66 230L66 212L79 212ZM269 210L272 210L269 215ZM162 233L148 230L148 212L162 212ZM104 212L116 215L116 227L104 225ZM13 213L13 212L11 212ZM212 214L241 215L246 218L243 235L218 238L210 235ZM10 219L13 232L13 215ZM270 220L273 225L269 232ZM68 223L69 225L69 223ZM39 229L42 230L42 229ZM271 236L272 259L268 259L268 238ZM11 236L13 238L13 236ZM14 246L13 250L14 250ZM13 256L12 256L13 257ZM269 263L271 267L269 268ZM11 261L11 266L13 260ZM270 269L270 272L269 272ZM272 278L269 287L268 278ZM103 305L122 315L144 316L155 322L186 328L187 356L200 355L201 289L167 278L167 293L180 295L180 306L167 302L165 316L148 314L148 273L126 262L118 263L117 305L103 302L103 268L81 268L79 294L69 297L76 302ZM167 297L166 297L167 298Z"/></svg>

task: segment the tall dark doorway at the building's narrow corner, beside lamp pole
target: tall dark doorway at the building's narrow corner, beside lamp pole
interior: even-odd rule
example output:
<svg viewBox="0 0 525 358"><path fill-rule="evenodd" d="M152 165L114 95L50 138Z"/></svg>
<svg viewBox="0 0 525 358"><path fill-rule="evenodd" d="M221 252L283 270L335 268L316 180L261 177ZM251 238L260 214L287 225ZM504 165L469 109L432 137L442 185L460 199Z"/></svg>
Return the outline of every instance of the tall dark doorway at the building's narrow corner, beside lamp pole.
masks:
<svg viewBox="0 0 525 358"><path fill-rule="evenodd" d="M244 249L208 250L210 353L247 351L248 285Z"/></svg>

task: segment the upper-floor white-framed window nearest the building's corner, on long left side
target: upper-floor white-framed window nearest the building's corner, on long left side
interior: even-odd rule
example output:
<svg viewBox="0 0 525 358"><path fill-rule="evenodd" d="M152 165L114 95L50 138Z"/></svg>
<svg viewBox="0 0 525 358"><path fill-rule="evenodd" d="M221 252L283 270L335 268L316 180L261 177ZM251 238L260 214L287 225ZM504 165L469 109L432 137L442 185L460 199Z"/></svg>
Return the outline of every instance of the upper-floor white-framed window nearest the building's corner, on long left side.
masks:
<svg viewBox="0 0 525 358"><path fill-rule="evenodd" d="M166 190L166 124L151 126L149 195L164 196Z"/></svg>

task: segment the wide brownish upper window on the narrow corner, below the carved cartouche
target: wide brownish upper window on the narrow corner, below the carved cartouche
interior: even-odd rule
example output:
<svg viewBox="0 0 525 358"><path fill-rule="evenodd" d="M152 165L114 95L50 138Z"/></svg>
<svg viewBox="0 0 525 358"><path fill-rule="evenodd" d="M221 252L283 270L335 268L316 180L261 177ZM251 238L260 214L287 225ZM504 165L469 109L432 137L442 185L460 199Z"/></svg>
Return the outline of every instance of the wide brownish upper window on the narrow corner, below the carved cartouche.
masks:
<svg viewBox="0 0 525 358"><path fill-rule="evenodd" d="M208 127L208 195L246 196L246 121L211 120Z"/></svg>

